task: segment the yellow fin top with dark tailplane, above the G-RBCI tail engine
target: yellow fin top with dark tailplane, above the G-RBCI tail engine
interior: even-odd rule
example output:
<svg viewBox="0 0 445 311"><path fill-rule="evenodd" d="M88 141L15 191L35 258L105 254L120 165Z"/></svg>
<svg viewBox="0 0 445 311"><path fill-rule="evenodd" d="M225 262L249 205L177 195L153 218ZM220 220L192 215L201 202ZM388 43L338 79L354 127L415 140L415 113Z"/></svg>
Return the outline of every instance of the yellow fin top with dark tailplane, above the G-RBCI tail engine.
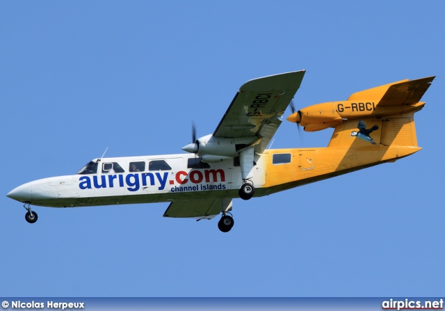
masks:
<svg viewBox="0 0 445 311"><path fill-rule="evenodd" d="M435 77L416 80L402 80L385 84L376 88L369 88L350 95L348 101L375 101L378 106L397 106L402 104L416 104L431 85Z"/></svg>

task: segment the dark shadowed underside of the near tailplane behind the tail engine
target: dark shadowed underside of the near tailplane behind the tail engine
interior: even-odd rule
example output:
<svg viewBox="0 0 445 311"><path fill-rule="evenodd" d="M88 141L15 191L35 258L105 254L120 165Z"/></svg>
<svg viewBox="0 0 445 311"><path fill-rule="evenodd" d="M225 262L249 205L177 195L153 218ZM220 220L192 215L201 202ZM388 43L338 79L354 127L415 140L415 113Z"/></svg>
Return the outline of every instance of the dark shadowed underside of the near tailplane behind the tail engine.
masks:
<svg viewBox="0 0 445 311"><path fill-rule="evenodd" d="M431 85L435 77L427 77L412 81L395 83L390 86L378 103L379 106L396 106L401 104L416 104Z"/></svg>

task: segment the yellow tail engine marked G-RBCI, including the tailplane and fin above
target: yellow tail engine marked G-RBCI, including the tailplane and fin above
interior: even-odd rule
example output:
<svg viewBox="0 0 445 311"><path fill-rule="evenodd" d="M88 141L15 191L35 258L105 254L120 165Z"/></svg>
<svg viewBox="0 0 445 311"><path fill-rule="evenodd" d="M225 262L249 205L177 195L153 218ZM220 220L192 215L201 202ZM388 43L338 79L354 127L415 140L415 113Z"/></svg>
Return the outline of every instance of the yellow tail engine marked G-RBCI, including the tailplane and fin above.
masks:
<svg viewBox="0 0 445 311"><path fill-rule="evenodd" d="M434 78L402 80L362 90L343 102L325 102L300 109L287 120L305 127L305 131L320 131L336 127L344 120L379 119L415 113L425 105L420 99Z"/></svg>

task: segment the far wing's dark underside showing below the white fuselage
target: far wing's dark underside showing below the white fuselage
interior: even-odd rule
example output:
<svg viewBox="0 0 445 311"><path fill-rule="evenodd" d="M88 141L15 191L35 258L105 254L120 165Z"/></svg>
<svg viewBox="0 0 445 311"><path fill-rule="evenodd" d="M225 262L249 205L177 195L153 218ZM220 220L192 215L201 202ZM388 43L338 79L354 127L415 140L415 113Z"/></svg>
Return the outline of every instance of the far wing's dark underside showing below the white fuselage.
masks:
<svg viewBox="0 0 445 311"><path fill-rule="evenodd" d="M175 201L168 205L164 217L211 219L223 210L232 209L232 199Z"/></svg>

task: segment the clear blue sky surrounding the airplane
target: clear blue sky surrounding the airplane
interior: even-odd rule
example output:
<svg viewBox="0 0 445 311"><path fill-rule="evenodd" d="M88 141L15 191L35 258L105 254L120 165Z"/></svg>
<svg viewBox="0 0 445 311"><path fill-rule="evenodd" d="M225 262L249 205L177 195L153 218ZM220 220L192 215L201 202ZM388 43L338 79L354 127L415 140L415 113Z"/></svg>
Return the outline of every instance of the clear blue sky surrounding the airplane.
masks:
<svg viewBox="0 0 445 311"><path fill-rule="evenodd" d="M2 1L2 296L444 296L445 3ZM307 70L298 107L437 78L416 113L423 150L331 180L234 200L218 218L168 203L52 209L11 189L87 161L181 153L250 79ZM290 114L288 111L287 114ZM283 122L274 148L332 130Z"/></svg>

